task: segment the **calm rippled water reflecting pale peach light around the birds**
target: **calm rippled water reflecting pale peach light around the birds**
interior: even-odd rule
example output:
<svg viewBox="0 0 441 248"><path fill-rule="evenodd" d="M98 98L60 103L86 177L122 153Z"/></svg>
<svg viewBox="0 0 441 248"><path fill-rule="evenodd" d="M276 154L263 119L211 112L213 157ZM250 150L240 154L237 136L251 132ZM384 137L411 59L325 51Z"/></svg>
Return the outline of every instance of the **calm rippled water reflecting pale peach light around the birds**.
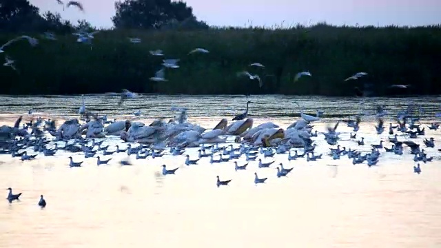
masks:
<svg viewBox="0 0 441 248"><path fill-rule="evenodd" d="M424 99L369 99L364 107L358 99L324 97L251 96L250 114L256 124L273 121L287 127L298 110L325 112L324 120L353 116L360 109L386 105L392 118L407 103L424 106L424 118L438 112L440 97ZM79 96L0 97L0 125L10 124L19 114L66 119L76 117ZM243 112L245 96L143 96L118 107L117 99L86 96L92 112L109 118L132 118L141 109L141 119L172 117L172 106L188 107L189 119L213 127L220 118ZM324 123L314 123L319 131ZM426 128L427 130L427 128ZM340 125L340 145L367 151L349 141L351 129ZM358 138L367 144L387 140L375 134L372 123L364 123ZM425 137L441 141L440 130L427 130ZM398 137L406 140L404 136ZM317 153L328 152L323 137L315 138ZM345 141L346 140L346 141ZM422 143L422 138L413 140ZM112 138L110 149L119 143ZM390 147L390 145L387 145ZM96 166L96 159L75 154L85 161L82 168L68 167L68 156L41 157L21 162L0 155L0 188L23 192L21 202L0 204L0 247L440 247L441 162L437 149L426 148L432 163L422 164L422 174L412 172L412 155L382 153L378 167L351 165L348 158L307 163L304 158L287 161L276 155L276 163L295 169L288 178L276 178L276 169L234 172L233 163L183 165L183 157L132 159L121 167L118 154L110 165ZM196 149L188 149L192 158ZM39 155L40 156L40 155ZM265 161L272 161L266 158ZM239 165L245 163L240 158ZM158 176L161 165L180 167L176 175ZM327 166L338 165L338 166ZM269 177L265 185L253 184L254 172ZM232 179L229 187L216 188L216 175ZM6 197L7 191L4 191ZM37 206L39 195L48 202Z"/></svg>

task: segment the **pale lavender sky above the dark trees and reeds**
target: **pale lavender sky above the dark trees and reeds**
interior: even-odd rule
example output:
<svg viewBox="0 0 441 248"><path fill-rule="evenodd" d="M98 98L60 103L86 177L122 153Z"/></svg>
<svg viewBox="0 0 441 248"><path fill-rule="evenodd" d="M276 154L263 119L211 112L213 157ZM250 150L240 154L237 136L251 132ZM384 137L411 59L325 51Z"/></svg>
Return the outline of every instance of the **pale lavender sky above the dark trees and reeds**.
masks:
<svg viewBox="0 0 441 248"><path fill-rule="evenodd" d="M79 0L85 12L63 11L56 0L29 0L41 12L59 12L76 23L86 19L96 27L110 28L115 0ZM65 0L67 1L67 0ZM326 21L334 25L431 25L441 23L440 0L187 0L194 15L209 25L285 26Z"/></svg>

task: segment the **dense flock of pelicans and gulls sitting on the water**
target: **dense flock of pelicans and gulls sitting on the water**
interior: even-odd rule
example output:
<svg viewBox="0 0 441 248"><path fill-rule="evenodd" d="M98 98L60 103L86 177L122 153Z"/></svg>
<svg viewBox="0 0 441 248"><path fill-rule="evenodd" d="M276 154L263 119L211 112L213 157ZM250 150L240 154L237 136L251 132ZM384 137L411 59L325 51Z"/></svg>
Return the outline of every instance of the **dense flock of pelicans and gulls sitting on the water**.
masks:
<svg viewBox="0 0 441 248"><path fill-rule="evenodd" d="M83 154L84 158L95 160L98 166L111 163L112 157L104 158L104 156L112 156L113 154L120 153L127 154L127 158L119 161L119 165L121 166L133 165L130 161L130 156L132 155L135 156L136 160L140 160L148 157L153 159L162 158L163 156L179 157L185 154L185 159L183 159L182 162L184 167L192 167L192 165L204 163L203 160L205 158L207 158L205 163L210 164L233 162L236 172L249 169L250 163L256 163L256 168L254 169L268 169L278 164L274 168L274 176L276 178L286 178L294 169L294 167L286 168L283 163L276 163L276 160L265 161L267 158L273 158L276 154L278 154L279 157L281 154L286 154L288 163L300 158L304 158L306 162L310 163L322 159L322 156L329 156L332 160L336 161L346 156L353 165L367 163L369 167L372 167L378 164L382 150L384 149L384 152L395 154L396 156L404 156L404 154L408 153L412 154L413 161L416 162L416 165L413 166L413 172L416 174L422 172L420 163L429 163L434 159L433 156L427 156L425 150L435 147L435 139L433 137L424 138L423 144L418 144L412 141L412 139L425 136L426 127L430 130L429 132L436 132L440 124L431 123L426 127L422 127L422 124L418 123L420 118L414 116L413 107L411 105L409 105L406 110L400 112L396 121L389 123L389 127L387 127L382 120L382 117L386 114L386 110L381 106L377 107L374 116L377 118L378 123L374 128L376 134L379 136L384 132L389 134L387 141L391 143L391 147L386 147L383 144L385 137L381 136L380 143L378 144L365 144L364 137L360 137L357 140L357 132L360 130L361 123L360 116L357 116L356 119L337 121L335 125L327 126L326 132L319 133L317 130L313 132L314 127L311 124L314 123L314 121L320 121L320 118L303 113L298 103L296 104L300 109L301 118L289 125L285 130L280 129L278 125L271 122L252 127L252 118L247 118L249 103L252 102L247 102L247 110L245 113L238 114L233 118L233 121L236 122L227 125L226 119L223 119L213 130L205 130L198 125L188 123L185 109L176 109L179 110L181 114L175 119L168 121L168 123L158 120L149 126L145 126L143 123L131 123L130 121L107 121L107 116L98 117L95 115L94 120L90 119L90 116L83 116L86 118L85 124L83 125L86 129L91 128L92 125L96 125L96 123L101 123L102 125L108 124L103 130L105 130L107 135L120 136L121 139L127 141L127 147L124 149L119 145L115 145L115 149L110 149L110 144L104 144L106 140L103 136L98 136L96 132L86 132L86 137L84 137L84 132L81 132L81 130L84 129L83 127L81 127L80 132L76 133L78 135L67 136L68 127L79 126L78 119L65 121L57 130L55 121L51 121L50 119L46 121L42 118L37 118L37 120L30 121L30 123L25 123L21 127L22 116L20 116L14 127L4 125L0 127L2 137L5 137L5 135L9 137L9 139L6 139L6 141L0 144L0 152L1 154L10 154L12 157L18 157L21 161L32 161L42 155L54 156L59 151L65 153L70 152L76 155ZM79 107L79 113L85 112L83 102L83 105ZM337 132L338 126L342 122L351 128L349 135L344 138L340 137L340 135L347 135L347 132ZM121 126L118 123L123 123L123 125ZM251 123L251 125L246 125L249 123ZM119 132L114 132L114 127L117 126L122 127L122 129L120 128ZM111 127L113 131L111 131ZM369 125L367 125L367 127L371 128ZM28 132L29 129L32 131ZM197 134L196 139L191 138L192 135L190 134L194 134L194 130L198 129L202 129L202 132ZM147 130L154 130L154 132L150 132L148 135L145 134L147 137L154 138L143 139L141 137L144 136L138 136L136 140L131 141L123 138L126 137L127 134L139 135L139 130L143 130L142 134L145 134ZM162 133L159 130L163 130ZM172 132L175 132L167 136L168 140L173 142L167 143L167 141L158 138L158 136L165 135L164 132L166 131L164 130L172 130ZM110 134L111 132L112 134ZM54 138L50 140L50 136L54 136ZM220 138L219 136L234 136L235 143L228 144L226 138ZM320 136L331 146L329 147L328 153L316 154L314 152L318 146L316 141L318 141L318 137ZM102 138L101 141L97 141L97 138L100 137ZM179 140L178 143L175 142L176 139ZM139 145L134 146L132 141L139 143ZM338 143L339 141L353 141L354 145L360 147L360 151L352 147L342 147L342 145ZM63 143L64 145L61 147ZM208 143L212 144L207 145ZM237 143L239 144L237 145ZM409 147L409 152L406 151L404 145ZM426 148L422 149L421 145L424 145ZM367 150L367 147L370 149ZM198 158L190 158L188 152L191 152L191 149L197 149ZM28 154L28 152L31 151L33 151L34 154ZM441 151L441 149L438 149L438 151ZM68 158L69 167L81 167L85 162L74 161L72 156ZM245 163L240 164L240 158L245 158ZM161 166L162 171L156 172L155 174L157 177L178 174L178 169L181 168L174 167L170 169L167 168L165 164ZM329 166L337 167L338 165ZM231 178L221 180L219 176L216 176L216 187L229 185L232 180ZM254 172L253 182L255 185L267 183L267 180L268 177L258 176L257 170ZM8 188L8 191L9 194L6 199L10 203L20 199L21 193L14 194L11 187ZM43 195L41 195L38 205L40 207L46 206Z"/></svg>

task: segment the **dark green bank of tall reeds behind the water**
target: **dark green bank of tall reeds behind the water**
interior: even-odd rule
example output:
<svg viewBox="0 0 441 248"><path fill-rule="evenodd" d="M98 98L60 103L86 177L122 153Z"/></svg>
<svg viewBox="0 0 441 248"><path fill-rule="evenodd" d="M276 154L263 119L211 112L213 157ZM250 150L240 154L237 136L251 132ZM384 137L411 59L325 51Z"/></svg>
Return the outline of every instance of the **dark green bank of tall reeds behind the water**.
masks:
<svg viewBox="0 0 441 248"><path fill-rule="evenodd" d="M17 34L0 34L6 42ZM37 34L36 34L37 35ZM138 37L142 43L129 43ZM391 84L411 84L411 94L441 94L441 26L335 27L325 24L289 29L216 28L200 31L107 30L90 45L65 35L58 41L40 39L31 48L25 41L6 52L19 73L0 68L1 94L80 94L134 92L163 94L322 94L346 96L362 83L389 94ZM205 48L209 54L192 54ZM181 68L166 70L167 82L149 80L162 58L181 59ZM262 63L265 69L249 68ZM259 74L256 81L236 72ZM312 77L293 81L297 72ZM356 72L369 76L344 81ZM405 92L404 92L405 93Z"/></svg>

